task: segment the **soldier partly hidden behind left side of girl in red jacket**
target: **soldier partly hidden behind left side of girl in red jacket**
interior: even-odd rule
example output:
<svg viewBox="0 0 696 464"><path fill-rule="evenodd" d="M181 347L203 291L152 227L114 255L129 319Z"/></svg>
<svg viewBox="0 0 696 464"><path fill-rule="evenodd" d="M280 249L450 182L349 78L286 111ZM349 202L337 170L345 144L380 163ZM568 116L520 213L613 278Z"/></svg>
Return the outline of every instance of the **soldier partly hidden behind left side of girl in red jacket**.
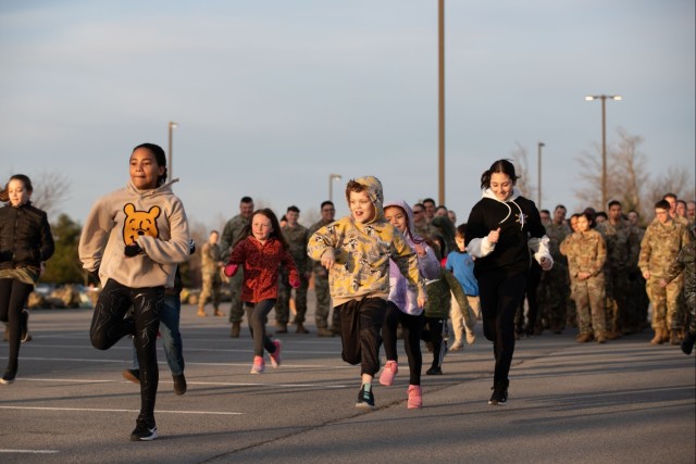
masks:
<svg viewBox="0 0 696 464"><path fill-rule="evenodd" d="M220 238L220 250L223 261L226 262L234 246L245 237L244 230L249 224L252 213L253 200L250 197L243 197L239 202L239 214L227 221L227 224L225 224L225 228L222 231L222 237ZM229 322L232 323L232 330L229 336L233 338L239 337L241 319L244 318L244 308L241 304L243 281L244 272L241 268L229 278L229 291L232 293L232 304L229 306Z"/></svg>

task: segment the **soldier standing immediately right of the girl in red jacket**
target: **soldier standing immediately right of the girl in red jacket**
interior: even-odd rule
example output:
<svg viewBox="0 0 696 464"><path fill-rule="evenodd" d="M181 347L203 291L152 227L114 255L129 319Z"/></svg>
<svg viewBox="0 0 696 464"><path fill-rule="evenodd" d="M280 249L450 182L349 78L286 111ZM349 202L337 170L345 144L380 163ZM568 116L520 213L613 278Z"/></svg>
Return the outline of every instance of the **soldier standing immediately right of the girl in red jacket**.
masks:
<svg viewBox="0 0 696 464"><path fill-rule="evenodd" d="M307 241L309 240L309 231L307 227L300 225L297 221L300 217L299 208L288 206L285 213L287 224L281 227L283 237L288 244L288 251L297 266L297 273L300 277L300 286L295 290L295 324L297 334L309 334L304 328L304 315L307 314L307 289L309 288L309 278L312 275L310 259L307 255ZM278 334L287 333L287 323L290 316L290 293L291 287L287 279L287 271L281 273L278 285L278 299L275 303L275 325Z"/></svg>

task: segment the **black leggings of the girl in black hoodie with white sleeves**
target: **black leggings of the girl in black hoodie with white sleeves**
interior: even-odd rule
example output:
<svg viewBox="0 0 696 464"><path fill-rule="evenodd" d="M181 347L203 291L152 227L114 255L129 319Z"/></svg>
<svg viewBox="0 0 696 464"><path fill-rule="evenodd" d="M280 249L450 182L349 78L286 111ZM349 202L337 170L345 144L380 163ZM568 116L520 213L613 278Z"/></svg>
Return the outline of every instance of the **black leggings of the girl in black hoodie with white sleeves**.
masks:
<svg viewBox="0 0 696 464"><path fill-rule="evenodd" d="M478 277L483 334L493 341L495 384L507 384L514 353L514 313L524 297L526 273L492 271Z"/></svg>

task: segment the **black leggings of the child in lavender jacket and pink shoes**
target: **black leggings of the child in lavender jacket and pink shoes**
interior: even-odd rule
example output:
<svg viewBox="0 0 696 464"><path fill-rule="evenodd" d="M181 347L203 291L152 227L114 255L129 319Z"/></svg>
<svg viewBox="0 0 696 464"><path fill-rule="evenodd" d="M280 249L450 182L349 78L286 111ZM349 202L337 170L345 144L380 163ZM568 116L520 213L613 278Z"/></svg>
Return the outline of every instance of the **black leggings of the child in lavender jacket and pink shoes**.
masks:
<svg viewBox="0 0 696 464"><path fill-rule="evenodd" d="M421 368L423 367L421 331L423 330L424 317L422 313L418 316L406 314L391 301L387 301L384 325L382 326L384 352L387 355L387 361L398 361L396 352L396 330L398 323L401 323L403 330L403 349L409 360L410 385L421 385Z"/></svg>

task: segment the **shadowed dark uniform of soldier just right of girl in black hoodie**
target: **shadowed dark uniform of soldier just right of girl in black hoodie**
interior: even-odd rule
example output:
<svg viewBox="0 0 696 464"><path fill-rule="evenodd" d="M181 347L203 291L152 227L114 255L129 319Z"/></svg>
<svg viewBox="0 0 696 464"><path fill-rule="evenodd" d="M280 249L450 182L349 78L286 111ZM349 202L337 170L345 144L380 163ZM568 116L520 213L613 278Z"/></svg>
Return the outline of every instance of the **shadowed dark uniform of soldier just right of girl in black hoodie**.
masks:
<svg viewBox="0 0 696 464"><path fill-rule="evenodd" d="M566 310L570 297L568 260L560 251L561 242L571 234L570 228L566 224L555 223L545 227L554 267L542 273L542 280L537 289L539 314L536 317L535 334L542 331L542 319L547 321L552 331L559 331L566 327Z"/></svg>

